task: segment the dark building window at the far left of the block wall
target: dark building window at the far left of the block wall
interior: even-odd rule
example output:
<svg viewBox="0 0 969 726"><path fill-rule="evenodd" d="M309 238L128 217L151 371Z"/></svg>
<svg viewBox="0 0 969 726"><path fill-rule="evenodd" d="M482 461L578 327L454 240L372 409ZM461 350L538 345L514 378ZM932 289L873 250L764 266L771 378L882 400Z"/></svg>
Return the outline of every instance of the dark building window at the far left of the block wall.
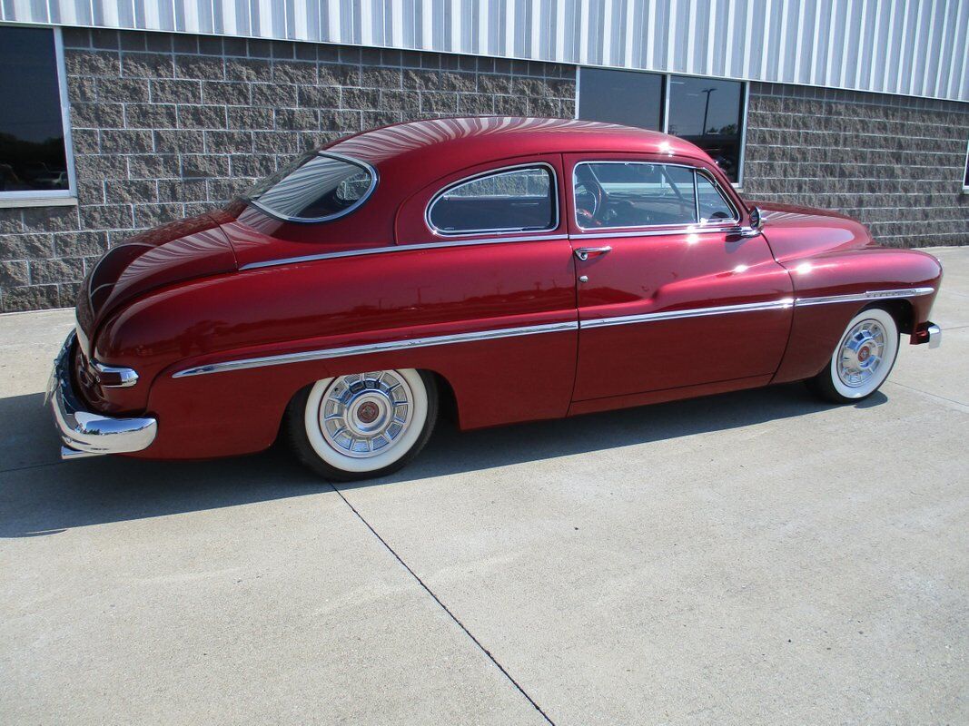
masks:
<svg viewBox="0 0 969 726"><path fill-rule="evenodd" d="M54 32L0 27L0 193L66 190Z"/></svg>

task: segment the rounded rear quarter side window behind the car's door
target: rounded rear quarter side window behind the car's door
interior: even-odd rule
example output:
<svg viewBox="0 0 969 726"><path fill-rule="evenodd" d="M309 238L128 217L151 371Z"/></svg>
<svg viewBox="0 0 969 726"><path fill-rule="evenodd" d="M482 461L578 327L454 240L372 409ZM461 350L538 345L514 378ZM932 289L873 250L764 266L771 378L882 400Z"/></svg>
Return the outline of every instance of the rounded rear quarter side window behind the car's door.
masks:
<svg viewBox="0 0 969 726"><path fill-rule="evenodd" d="M480 174L444 190L427 207L427 224L442 234L554 229L556 201L549 167L520 166Z"/></svg>

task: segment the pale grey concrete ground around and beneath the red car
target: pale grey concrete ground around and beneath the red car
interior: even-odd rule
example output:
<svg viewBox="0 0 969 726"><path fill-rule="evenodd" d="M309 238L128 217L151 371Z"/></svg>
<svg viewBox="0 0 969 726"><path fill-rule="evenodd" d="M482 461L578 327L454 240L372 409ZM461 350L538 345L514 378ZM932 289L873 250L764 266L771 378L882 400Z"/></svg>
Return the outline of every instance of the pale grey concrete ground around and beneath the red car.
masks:
<svg viewBox="0 0 969 726"><path fill-rule="evenodd" d="M943 347L859 407L445 427L337 489L60 463L71 314L0 317L0 722L969 722L969 248L935 252Z"/></svg>

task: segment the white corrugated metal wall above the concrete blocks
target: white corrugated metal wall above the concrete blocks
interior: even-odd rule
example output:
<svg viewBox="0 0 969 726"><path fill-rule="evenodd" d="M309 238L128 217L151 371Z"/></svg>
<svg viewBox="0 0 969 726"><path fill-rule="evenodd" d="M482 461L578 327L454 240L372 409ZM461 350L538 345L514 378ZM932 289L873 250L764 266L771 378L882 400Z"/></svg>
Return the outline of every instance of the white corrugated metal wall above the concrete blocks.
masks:
<svg viewBox="0 0 969 726"><path fill-rule="evenodd" d="M0 0L0 19L381 45L969 101L969 0Z"/></svg>

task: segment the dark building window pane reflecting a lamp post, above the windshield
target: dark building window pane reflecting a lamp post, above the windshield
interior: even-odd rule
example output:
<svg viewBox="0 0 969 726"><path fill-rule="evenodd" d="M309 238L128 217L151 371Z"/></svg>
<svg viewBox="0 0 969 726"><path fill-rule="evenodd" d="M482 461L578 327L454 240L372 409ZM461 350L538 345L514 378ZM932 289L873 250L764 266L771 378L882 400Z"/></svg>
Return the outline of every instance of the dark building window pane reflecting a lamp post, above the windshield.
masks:
<svg viewBox="0 0 969 726"><path fill-rule="evenodd" d="M688 76L670 77L668 132L703 149L737 181L740 168L740 127L743 84Z"/></svg>

